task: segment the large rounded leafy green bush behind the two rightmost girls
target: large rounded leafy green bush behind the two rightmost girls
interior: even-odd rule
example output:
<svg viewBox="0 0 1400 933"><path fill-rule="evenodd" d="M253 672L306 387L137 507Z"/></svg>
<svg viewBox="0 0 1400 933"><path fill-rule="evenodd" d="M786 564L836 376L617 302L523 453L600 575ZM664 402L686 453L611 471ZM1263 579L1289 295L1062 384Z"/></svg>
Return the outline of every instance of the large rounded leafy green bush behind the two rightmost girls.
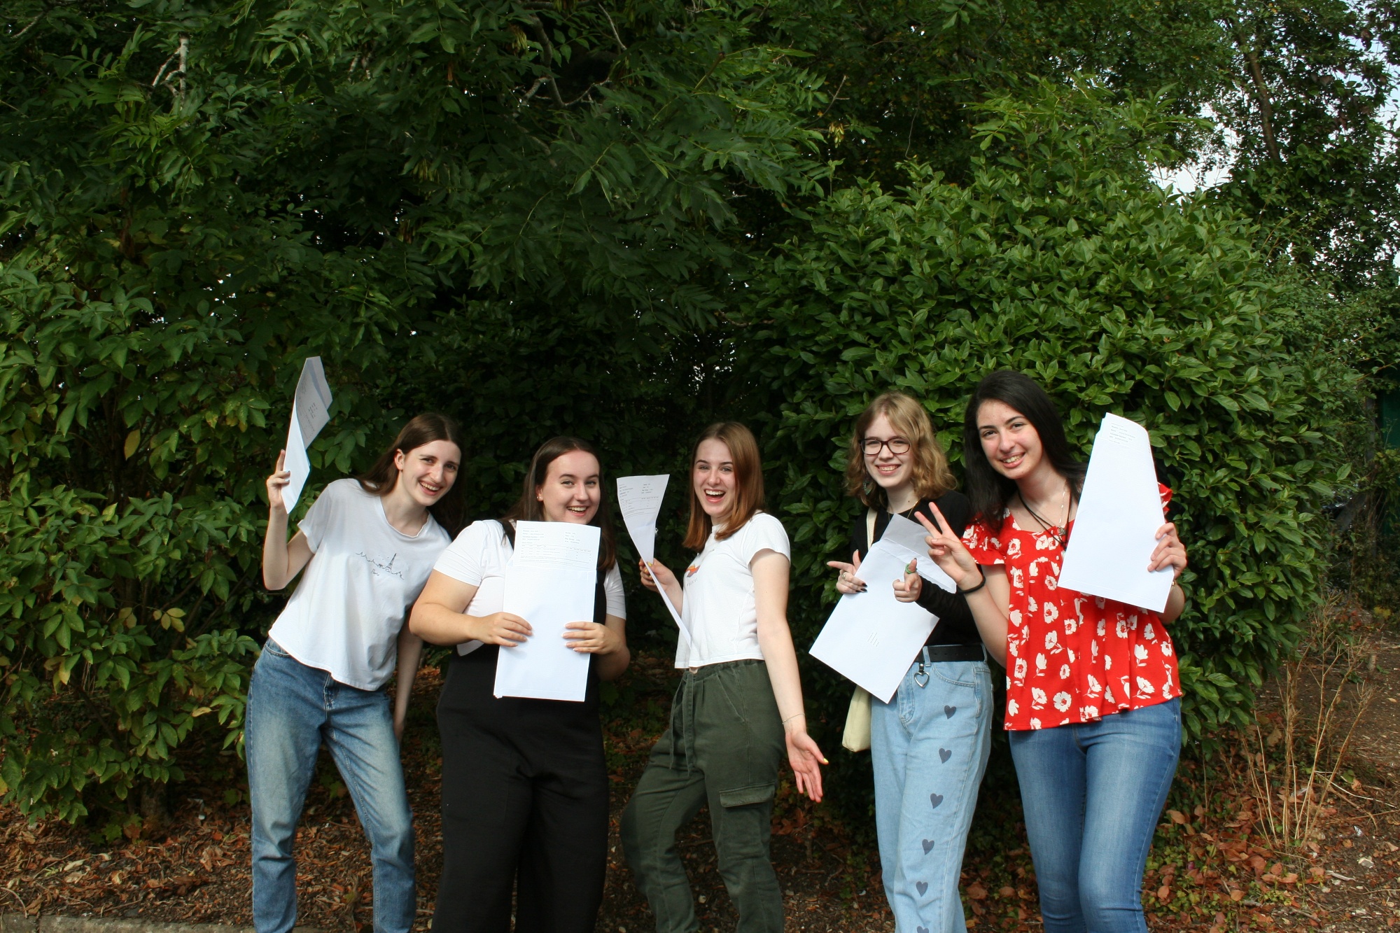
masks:
<svg viewBox="0 0 1400 933"><path fill-rule="evenodd" d="M910 165L899 192L836 191L750 283L741 346L778 412L769 454L787 471L808 639L854 513L840 483L854 416L907 391L960 462L972 388L1016 368L1085 457L1103 412L1149 429L1191 559L1173 625L1189 734L1245 721L1319 598L1319 507L1345 478L1329 431L1352 382L1324 347L1280 335L1289 293L1263 276L1247 224L1151 184L1161 120L1093 88L993 101L967 186ZM846 685L830 691L839 719Z"/></svg>

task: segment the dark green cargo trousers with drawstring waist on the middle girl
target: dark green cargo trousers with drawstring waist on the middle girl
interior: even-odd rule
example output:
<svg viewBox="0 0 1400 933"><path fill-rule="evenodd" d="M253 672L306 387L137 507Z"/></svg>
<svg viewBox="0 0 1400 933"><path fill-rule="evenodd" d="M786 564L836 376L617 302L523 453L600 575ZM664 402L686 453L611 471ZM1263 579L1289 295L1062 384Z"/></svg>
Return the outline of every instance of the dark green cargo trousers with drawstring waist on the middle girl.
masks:
<svg viewBox="0 0 1400 933"><path fill-rule="evenodd" d="M739 912L735 933L783 933L783 891L769 857L773 792L787 754L763 661L687 671L668 728L622 814L622 845L657 933L694 933L690 880L676 831L704 804L720 877Z"/></svg>

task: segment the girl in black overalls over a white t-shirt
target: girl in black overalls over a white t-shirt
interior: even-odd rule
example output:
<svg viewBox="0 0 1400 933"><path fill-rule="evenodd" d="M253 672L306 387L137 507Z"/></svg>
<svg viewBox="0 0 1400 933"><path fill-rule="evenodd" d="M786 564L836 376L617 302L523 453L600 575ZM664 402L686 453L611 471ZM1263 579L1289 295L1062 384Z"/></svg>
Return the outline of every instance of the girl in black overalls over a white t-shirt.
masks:
<svg viewBox="0 0 1400 933"><path fill-rule="evenodd" d="M594 618L570 622L592 654L582 703L493 696L496 658L531 637L501 609L515 521L599 527ZM598 681L627 667L622 576L598 454L556 437L531 461L501 521L468 527L437 562L410 629L456 654L438 700L442 735L442 880L434 933L505 933L515 891L519 933L588 933L608 867L608 768Z"/></svg>

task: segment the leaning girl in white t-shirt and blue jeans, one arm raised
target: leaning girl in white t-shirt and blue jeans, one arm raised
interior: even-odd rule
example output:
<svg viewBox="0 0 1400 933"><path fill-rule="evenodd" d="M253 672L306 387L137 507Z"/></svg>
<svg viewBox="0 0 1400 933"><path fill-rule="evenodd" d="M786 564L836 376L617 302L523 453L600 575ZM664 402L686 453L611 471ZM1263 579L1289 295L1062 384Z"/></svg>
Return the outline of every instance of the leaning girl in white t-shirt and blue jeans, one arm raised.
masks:
<svg viewBox="0 0 1400 933"><path fill-rule="evenodd" d="M263 583L281 590L305 574L267 633L248 688L253 926L287 933L295 925L291 843L325 742L370 836L375 930L407 933L413 814L398 740L423 642L403 616L458 527L461 430L442 415L419 415L370 472L326 486L291 541L286 455L267 478ZM395 664L391 710L384 685Z"/></svg>

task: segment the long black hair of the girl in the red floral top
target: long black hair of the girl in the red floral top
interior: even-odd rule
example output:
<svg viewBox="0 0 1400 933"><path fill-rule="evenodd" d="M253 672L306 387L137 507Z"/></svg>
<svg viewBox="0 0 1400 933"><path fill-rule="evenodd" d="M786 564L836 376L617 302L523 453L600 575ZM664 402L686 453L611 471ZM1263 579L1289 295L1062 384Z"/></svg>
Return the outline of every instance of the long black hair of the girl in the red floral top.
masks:
<svg viewBox="0 0 1400 933"><path fill-rule="evenodd" d="M1040 436L1044 458L1054 471L1070 481L1070 495L1079 496L1084 489L1085 465L1075 459L1070 441L1064 436L1064 422L1054 402L1040 384L1029 375L1014 370L997 370L977 382L977 389L967 399L967 413L963 416L963 464L967 466L967 499L972 514L995 527L1007 503L1016 495L1016 483L998 474L981 450L981 434L977 430L977 410L983 402L1001 402L1026 416Z"/></svg>

